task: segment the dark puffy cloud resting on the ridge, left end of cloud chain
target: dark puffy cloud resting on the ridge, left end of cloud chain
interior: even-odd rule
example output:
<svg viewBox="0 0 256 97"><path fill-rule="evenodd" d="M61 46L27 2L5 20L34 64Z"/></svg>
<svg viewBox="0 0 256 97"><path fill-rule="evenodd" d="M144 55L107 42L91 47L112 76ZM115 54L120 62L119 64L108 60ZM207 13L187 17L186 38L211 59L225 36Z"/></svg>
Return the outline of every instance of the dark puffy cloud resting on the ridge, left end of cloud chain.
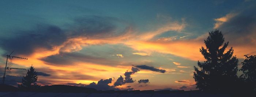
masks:
<svg viewBox="0 0 256 97"><path fill-rule="evenodd" d="M92 82L91 84L85 86L87 88L94 88L97 90L119 90L117 88L114 88L114 86L109 86L112 82L112 78L106 79L106 80L99 80L98 83L96 84L95 82Z"/></svg>

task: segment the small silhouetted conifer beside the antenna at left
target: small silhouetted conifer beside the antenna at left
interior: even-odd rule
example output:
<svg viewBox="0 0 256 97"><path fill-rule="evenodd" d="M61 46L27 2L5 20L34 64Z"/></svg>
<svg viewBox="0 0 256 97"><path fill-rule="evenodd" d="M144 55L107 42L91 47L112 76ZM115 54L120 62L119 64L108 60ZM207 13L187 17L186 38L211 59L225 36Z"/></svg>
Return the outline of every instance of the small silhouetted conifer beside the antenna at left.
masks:
<svg viewBox="0 0 256 97"><path fill-rule="evenodd" d="M23 76L22 83L18 85L18 87L22 90L34 90L39 88L39 85L35 82L37 81L37 72L35 71L34 66L30 66L29 70L27 70L26 76Z"/></svg>

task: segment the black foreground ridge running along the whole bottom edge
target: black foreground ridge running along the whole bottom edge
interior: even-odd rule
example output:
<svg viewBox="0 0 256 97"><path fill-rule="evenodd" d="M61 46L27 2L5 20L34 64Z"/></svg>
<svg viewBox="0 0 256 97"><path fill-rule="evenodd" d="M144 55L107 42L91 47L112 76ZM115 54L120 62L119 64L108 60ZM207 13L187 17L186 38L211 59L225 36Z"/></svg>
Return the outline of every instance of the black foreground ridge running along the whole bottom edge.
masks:
<svg viewBox="0 0 256 97"><path fill-rule="evenodd" d="M42 86L34 91L22 91L0 84L0 97L254 97L255 93L210 93L199 90L96 90L70 85Z"/></svg>

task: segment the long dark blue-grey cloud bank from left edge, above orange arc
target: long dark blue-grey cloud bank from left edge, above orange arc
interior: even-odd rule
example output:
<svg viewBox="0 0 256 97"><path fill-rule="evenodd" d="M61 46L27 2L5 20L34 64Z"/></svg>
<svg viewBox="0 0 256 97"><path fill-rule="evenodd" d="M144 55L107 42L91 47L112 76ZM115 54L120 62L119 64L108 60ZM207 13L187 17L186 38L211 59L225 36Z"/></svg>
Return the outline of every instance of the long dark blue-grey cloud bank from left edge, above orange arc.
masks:
<svg viewBox="0 0 256 97"><path fill-rule="evenodd" d="M63 44L68 38L118 36L123 34L123 31L117 30L116 26L117 24L125 24L122 22L111 17L84 16L74 19L72 24L65 24L68 25L68 28L65 29L55 25L38 24L31 30L14 31L20 33L19 35L1 37L0 46L7 52L14 50L15 54L29 55L37 48L50 50L55 46ZM60 48L60 51L63 48Z"/></svg>

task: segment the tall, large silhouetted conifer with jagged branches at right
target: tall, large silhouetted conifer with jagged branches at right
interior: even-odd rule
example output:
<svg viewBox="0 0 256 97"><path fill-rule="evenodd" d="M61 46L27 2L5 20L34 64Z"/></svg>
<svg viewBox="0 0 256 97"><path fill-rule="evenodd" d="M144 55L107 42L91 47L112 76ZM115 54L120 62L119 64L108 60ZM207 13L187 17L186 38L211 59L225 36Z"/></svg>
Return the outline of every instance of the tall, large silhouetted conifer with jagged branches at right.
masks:
<svg viewBox="0 0 256 97"><path fill-rule="evenodd" d="M200 70L194 66L193 78L196 81L196 88L202 91L230 90L237 80L238 70L238 59L233 56L233 48L224 53L229 42L224 43L223 34L217 29L209 32L204 43L206 48L200 48L200 52L206 61L197 62Z"/></svg>

